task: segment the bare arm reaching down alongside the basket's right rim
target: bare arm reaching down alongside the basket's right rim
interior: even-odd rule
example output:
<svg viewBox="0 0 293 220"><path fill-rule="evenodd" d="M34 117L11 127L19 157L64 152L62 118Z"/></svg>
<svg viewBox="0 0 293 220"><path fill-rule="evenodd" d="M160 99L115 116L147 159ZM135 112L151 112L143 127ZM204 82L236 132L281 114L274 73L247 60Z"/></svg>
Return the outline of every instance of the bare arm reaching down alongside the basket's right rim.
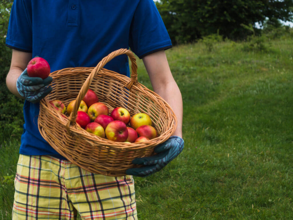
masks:
<svg viewBox="0 0 293 220"><path fill-rule="evenodd" d="M160 50L146 55L142 60L149 74L154 92L165 99L177 117L178 124L173 135L182 138L182 96L179 87L172 76L165 51Z"/></svg>

